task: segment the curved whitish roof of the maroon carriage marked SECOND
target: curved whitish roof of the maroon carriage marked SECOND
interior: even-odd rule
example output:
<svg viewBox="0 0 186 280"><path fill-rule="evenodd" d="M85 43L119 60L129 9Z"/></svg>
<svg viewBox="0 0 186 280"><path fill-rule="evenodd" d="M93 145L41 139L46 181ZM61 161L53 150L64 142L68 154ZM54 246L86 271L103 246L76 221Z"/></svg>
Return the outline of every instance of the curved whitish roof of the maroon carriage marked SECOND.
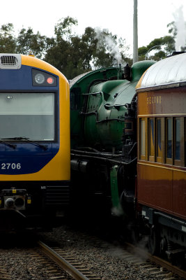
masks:
<svg viewBox="0 0 186 280"><path fill-rule="evenodd" d="M137 88L178 87L183 82L186 83L186 53L167 57L150 66Z"/></svg>

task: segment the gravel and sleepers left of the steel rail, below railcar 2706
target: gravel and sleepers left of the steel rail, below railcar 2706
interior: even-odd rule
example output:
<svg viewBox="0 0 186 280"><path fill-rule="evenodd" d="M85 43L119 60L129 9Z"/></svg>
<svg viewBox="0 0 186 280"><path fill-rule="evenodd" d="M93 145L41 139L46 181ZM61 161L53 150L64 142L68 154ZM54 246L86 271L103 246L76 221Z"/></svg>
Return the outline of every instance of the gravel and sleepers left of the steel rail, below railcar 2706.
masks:
<svg viewBox="0 0 186 280"><path fill-rule="evenodd" d="M42 255L40 249L9 248L0 252L0 280L72 280L53 262Z"/></svg>

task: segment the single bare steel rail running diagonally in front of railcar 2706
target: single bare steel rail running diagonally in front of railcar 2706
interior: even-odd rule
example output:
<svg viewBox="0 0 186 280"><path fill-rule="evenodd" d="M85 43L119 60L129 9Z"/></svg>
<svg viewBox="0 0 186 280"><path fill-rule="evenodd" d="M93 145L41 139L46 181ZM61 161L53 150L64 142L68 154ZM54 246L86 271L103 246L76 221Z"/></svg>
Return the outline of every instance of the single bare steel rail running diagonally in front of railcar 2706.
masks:
<svg viewBox="0 0 186 280"><path fill-rule="evenodd" d="M79 272L75 267L70 265L64 258L61 257L58 253L56 253L52 248L49 248L45 243L42 241L38 241L38 245L40 246L42 252L47 255L47 257L53 260L59 267L61 267L65 272L70 274L73 279L75 280L89 280L82 272Z"/></svg>

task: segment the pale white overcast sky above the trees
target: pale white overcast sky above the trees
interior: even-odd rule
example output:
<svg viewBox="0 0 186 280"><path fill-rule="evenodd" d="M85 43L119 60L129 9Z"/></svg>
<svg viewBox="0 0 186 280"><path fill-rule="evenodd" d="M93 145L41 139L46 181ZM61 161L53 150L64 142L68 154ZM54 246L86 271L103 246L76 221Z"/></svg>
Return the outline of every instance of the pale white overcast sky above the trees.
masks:
<svg viewBox="0 0 186 280"><path fill-rule="evenodd" d="M86 27L109 29L126 39L132 53L133 0L1 1L0 25L13 23L15 31L32 27L41 35L54 36L54 25L67 16L77 19L77 34L83 34ZM186 21L186 0L138 0L139 47L167 35L166 25L173 20L180 20L180 29L183 29L181 21ZM186 30L182 32L181 38Z"/></svg>

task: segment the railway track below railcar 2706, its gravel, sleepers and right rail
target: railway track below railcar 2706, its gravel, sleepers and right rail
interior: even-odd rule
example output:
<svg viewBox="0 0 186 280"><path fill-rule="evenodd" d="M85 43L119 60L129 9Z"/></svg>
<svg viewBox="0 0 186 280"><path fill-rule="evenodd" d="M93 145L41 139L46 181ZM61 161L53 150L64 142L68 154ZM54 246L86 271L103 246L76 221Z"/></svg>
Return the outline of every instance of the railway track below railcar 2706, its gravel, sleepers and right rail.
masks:
<svg viewBox="0 0 186 280"><path fill-rule="evenodd" d="M0 280L101 280L59 247L0 248Z"/></svg>

